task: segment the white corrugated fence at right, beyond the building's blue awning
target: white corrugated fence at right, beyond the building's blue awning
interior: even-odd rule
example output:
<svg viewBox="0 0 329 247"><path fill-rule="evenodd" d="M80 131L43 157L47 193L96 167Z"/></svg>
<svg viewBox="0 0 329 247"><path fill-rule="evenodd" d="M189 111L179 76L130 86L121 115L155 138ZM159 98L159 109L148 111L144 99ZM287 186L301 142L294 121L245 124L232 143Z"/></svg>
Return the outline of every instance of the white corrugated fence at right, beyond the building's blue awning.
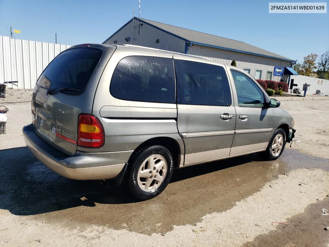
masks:
<svg viewBox="0 0 329 247"><path fill-rule="evenodd" d="M303 90L303 84L311 84L311 86L309 86L306 92L306 94L308 95L315 94L316 90L320 90L323 95L329 95L329 80L314 78L305 75L291 75L290 79L294 79L293 83L298 84L297 88L299 88L300 90Z"/></svg>

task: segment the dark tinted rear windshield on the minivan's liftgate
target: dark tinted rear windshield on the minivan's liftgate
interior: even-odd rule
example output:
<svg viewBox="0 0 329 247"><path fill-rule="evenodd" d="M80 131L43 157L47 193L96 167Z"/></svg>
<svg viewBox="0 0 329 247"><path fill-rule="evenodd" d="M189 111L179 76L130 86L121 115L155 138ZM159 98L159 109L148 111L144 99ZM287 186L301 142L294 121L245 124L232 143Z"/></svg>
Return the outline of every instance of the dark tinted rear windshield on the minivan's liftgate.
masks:
<svg viewBox="0 0 329 247"><path fill-rule="evenodd" d="M102 54L102 50L89 47L68 49L51 61L37 84L51 89L58 87L83 91Z"/></svg>

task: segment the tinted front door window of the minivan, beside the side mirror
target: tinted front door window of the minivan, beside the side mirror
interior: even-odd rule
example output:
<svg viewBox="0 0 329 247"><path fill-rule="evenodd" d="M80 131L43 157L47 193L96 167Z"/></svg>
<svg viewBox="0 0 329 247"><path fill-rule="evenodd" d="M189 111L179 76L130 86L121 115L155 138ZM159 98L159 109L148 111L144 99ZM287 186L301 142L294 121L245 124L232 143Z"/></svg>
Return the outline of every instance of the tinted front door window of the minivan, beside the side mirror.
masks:
<svg viewBox="0 0 329 247"><path fill-rule="evenodd" d="M264 106L263 91L248 76L231 70L239 106Z"/></svg>

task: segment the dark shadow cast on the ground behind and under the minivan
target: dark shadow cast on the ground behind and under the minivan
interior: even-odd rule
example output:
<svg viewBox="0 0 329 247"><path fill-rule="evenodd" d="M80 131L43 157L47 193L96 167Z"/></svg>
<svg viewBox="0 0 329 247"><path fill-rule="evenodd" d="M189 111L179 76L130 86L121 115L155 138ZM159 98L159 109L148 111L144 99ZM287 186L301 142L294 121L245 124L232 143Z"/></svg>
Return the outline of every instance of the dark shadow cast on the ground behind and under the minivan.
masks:
<svg viewBox="0 0 329 247"><path fill-rule="evenodd" d="M100 181L64 178L39 162L27 147L0 151L0 209L15 215L35 215L78 206L131 204L136 201L124 186ZM210 174L229 167L259 160L258 155L232 158L174 171L170 183ZM184 192L183 192L184 193Z"/></svg>

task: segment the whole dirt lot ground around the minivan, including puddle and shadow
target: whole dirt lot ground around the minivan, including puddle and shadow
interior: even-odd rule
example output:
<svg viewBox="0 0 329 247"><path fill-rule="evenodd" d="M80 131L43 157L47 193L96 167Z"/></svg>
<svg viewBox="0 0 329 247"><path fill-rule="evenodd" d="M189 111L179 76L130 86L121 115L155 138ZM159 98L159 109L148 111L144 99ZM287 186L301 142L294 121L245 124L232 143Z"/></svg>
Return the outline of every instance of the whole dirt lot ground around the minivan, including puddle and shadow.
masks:
<svg viewBox="0 0 329 247"><path fill-rule="evenodd" d="M329 100L280 100L300 141L281 158L248 155L177 170L146 202L53 173L23 142L31 105L6 103L0 246L329 246L329 215L321 211L329 209Z"/></svg>

